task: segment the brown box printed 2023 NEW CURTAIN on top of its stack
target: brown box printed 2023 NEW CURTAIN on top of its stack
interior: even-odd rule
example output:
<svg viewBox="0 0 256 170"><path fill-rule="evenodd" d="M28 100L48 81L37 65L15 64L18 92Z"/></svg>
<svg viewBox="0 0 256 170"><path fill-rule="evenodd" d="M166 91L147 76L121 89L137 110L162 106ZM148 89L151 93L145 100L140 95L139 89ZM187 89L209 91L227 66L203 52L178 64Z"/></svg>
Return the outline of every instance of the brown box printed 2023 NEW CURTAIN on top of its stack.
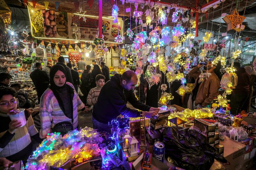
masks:
<svg viewBox="0 0 256 170"><path fill-rule="evenodd" d="M201 119L194 120L194 130L202 134L204 137L214 137L216 125Z"/></svg>

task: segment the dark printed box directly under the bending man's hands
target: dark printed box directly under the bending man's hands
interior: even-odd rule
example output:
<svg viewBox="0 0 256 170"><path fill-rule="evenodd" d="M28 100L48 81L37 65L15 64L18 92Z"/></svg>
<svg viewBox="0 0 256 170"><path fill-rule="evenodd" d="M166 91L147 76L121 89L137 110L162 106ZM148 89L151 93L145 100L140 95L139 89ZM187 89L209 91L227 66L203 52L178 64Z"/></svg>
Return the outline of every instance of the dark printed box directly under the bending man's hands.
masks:
<svg viewBox="0 0 256 170"><path fill-rule="evenodd" d="M150 127L154 130L161 129L168 126L168 116L171 114L170 111L158 114L158 116L152 116L150 118Z"/></svg>

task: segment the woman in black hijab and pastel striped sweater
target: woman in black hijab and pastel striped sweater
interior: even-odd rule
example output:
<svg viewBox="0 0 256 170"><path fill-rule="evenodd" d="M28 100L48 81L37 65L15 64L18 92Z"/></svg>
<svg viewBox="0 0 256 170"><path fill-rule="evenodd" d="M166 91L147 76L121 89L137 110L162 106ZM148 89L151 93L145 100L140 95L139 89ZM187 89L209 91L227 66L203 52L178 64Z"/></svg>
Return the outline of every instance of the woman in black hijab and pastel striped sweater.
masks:
<svg viewBox="0 0 256 170"><path fill-rule="evenodd" d="M54 65L50 70L50 87L40 101L40 137L45 138L61 122L70 122L73 129L78 128L77 109L84 111L84 103L78 97L74 86L67 82L65 68Z"/></svg>

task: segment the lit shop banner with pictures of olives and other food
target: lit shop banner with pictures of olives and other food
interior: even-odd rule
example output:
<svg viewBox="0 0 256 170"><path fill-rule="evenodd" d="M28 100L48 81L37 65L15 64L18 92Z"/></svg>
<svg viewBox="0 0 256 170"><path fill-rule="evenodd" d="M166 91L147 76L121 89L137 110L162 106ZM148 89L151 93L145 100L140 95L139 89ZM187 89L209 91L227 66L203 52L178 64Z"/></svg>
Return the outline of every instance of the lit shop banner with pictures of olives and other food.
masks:
<svg viewBox="0 0 256 170"><path fill-rule="evenodd" d="M28 11L31 31L34 37L73 41L80 39L80 41L91 42L97 38L99 25L99 17L97 16L81 16L60 11L37 10L31 6ZM122 18L118 18L118 23L113 23L112 18L102 17L102 25L106 27L103 32L105 42L116 43L115 37L118 34L123 36Z"/></svg>

